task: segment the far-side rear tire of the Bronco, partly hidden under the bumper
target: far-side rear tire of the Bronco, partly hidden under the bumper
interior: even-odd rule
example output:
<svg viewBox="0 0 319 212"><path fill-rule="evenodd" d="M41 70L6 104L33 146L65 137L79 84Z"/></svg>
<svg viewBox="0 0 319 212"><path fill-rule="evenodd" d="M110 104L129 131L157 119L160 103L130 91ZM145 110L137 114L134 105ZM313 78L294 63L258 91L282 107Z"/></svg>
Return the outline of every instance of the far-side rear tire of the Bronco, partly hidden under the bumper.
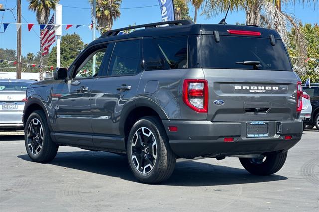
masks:
<svg viewBox="0 0 319 212"><path fill-rule="evenodd" d="M266 156L265 160L251 158L239 158L243 167L253 175L271 175L278 172L283 167L287 158L287 151L273 153Z"/></svg>

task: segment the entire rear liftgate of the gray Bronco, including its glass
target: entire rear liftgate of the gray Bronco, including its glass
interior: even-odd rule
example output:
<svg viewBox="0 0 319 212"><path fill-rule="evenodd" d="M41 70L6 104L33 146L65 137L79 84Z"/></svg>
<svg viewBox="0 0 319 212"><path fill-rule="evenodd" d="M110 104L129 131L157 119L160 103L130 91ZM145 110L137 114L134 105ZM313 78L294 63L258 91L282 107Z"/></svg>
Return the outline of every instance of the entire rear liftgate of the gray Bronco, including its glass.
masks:
<svg viewBox="0 0 319 212"><path fill-rule="evenodd" d="M282 41L222 34L219 39L201 36L201 66L209 85L207 119L295 119L297 78Z"/></svg>

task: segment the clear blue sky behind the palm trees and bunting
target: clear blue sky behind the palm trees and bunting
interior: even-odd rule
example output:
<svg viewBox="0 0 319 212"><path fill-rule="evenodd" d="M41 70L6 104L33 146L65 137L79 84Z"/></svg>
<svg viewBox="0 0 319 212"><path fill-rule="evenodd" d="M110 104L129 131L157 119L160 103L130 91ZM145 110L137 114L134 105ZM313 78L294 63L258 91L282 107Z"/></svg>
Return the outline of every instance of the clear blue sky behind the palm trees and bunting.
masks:
<svg viewBox="0 0 319 212"><path fill-rule="evenodd" d="M0 0L0 4L5 8L14 8L16 0ZM60 0L62 4L62 23L63 24L90 24L91 23L91 10L90 9L78 9L72 7L90 8L88 0ZM147 8L135 8L127 9L131 7L143 7L152 6ZM190 6L189 13L193 17L194 8ZM300 19L302 23L319 23L319 6L316 5L315 9L304 7L303 5L296 3L295 5L287 5L282 8L287 13L294 14L297 19ZM16 10L12 11L16 17ZM51 15L53 11L51 12ZM3 16L3 20L2 20ZM35 13L28 10L28 1L22 0L22 23L37 23ZM218 15L210 19L205 19L204 16L198 17L198 23L218 23L224 15ZM122 0L121 4L121 17L114 22L113 28L126 27L132 24L144 24L151 22L161 21L160 6L158 0ZM0 12L0 22L8 23L15 22L14 17L10 11ZM228 24L235 24L236 22L245 22L245 13L243 11L231 12L228 14L226 22ZM85 43L92 41L92 31L87 26L81 26L77 29L71 27L65 30L66 26L63 26L63 35L67 33L78 33ZM28 52L37 52L40 49L39 44L39 26L34 25L29 32L27 25L22 25L22 54L26 55ZM0 32L3 32L3 24L1 24ZM99 33L97 32L97 37ZM52 47L55 44L52 45ZM52 48L51 47L51 48ZM0 33L0 48L16 49L16 27L10 24L4 33Z"/></svg>

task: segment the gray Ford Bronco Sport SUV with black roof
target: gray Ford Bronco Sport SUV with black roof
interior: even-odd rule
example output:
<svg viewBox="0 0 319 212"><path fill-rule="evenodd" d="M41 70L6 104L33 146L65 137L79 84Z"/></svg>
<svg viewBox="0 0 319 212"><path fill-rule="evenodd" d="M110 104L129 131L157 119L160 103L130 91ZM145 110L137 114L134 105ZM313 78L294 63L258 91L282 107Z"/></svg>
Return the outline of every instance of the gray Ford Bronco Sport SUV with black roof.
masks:
<svg viewBox="0 0 319 212"><path fill-rule="evenodd" d="M199 156L238 157L250 173L270 175L301 139L301 97L276 31L133 26L106 32L67 70L27 88L25 146L36 162L62 145L126 154L145 183L168 179L177 158Z"/></svg>

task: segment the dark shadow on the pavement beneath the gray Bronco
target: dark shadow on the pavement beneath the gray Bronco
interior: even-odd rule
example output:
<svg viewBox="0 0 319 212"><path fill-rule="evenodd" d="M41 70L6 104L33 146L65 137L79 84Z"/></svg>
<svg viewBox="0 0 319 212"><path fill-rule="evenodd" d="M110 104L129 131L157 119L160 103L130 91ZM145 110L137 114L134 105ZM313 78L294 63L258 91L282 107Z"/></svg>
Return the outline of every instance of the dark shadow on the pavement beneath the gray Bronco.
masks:
<svg viewBox="0 0 319 212"><path fill-rule="evenodd" d="M19 155L18 157L31 161L28 155ZM50 164L137 182L130 171L127 158L112 153L59 152ZM162 184L171 186L216 186L286 179L287 177L280 175L254 176L244 169L211 165L199 161L187 161L176 163L172 176Z"/></svg>

